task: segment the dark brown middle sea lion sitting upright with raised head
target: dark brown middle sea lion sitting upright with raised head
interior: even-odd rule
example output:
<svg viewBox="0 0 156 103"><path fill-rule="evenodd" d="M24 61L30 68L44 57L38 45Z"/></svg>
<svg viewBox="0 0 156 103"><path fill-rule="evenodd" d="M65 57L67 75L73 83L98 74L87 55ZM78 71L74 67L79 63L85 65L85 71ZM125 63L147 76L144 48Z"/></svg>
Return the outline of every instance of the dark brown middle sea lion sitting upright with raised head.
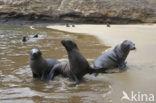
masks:
<svg viewBox="0 0 156 103"><path fill-rule="evenodd" d="M87 73L93 73L95 70L89 66L88 61L80 53L76 43L72 40L62 40L62 45L67 50L69 64L59 63L50 72L50 79L54 78L55 72L59 72L63 76L67 76L74 80L72 86L79 84L79 81Z"/></svg>

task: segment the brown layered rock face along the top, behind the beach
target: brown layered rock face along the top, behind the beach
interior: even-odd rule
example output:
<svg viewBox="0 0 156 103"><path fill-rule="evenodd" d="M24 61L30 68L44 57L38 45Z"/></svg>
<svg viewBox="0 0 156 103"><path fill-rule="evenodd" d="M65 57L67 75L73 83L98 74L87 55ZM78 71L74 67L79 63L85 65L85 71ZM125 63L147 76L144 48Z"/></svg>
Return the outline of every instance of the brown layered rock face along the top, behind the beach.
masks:
<svg viewBox="0 0 156 103"><path fill-rule="evenodd" d="M0 0L0 18L155 23L156 0Z"/></svg>

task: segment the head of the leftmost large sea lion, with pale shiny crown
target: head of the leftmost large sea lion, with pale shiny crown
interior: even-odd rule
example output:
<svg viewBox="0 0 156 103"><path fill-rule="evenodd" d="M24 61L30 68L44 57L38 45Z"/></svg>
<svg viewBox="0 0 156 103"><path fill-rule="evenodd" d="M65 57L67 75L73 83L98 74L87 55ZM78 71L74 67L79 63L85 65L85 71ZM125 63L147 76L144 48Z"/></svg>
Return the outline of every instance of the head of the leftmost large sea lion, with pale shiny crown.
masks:
<svg viewBox="0 0 156 103"><path fill-rule="evenodd" d="M40 58L41 56L42 56L42 53L41 53L41 51L40 51L39 49L32 49L32 50L30 51L30 58L31 58L32 60L38 59L38 58Z"/></svg>

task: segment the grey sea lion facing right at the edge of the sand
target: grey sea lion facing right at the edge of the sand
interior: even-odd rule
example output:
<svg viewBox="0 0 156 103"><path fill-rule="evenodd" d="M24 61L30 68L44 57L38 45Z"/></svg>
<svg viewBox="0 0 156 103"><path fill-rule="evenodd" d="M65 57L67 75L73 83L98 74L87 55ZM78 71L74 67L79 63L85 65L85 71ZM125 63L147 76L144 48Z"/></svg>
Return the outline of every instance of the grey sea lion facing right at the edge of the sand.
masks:
<svg viewBox="0 0 156 103"><path fill-rule="evenodd" d="M94 61L94 69L98 73L111 73L107 70L110 68L119 68L122 72L126 68L126 58L130 50L135 50L135 44L130 40L125 40L121 44L115 46L113 50L105 52ZM113 72L114 73L114 72Z"/></svg>

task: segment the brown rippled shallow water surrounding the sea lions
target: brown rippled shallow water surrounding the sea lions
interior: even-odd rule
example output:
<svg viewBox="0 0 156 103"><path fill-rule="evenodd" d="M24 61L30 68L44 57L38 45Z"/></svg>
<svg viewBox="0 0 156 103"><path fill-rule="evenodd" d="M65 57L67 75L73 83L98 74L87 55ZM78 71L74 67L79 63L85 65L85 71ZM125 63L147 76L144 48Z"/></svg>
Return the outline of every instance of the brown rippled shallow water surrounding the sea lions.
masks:
<svg viewBox="0 0 156 103"><path fill-rule="evenodd" d="M39 38L32 38L39 33ZM28 42L21 41L23 35ZM82 83L56 77L54 81L33 79L29 67L29 51L39 48L45 58L67 59L60 41L72 39L90 63L107 47L93 36L71 34L44 27L0 25L0 103L109 103L112 83L104 75L86 75Z"/></svg>

